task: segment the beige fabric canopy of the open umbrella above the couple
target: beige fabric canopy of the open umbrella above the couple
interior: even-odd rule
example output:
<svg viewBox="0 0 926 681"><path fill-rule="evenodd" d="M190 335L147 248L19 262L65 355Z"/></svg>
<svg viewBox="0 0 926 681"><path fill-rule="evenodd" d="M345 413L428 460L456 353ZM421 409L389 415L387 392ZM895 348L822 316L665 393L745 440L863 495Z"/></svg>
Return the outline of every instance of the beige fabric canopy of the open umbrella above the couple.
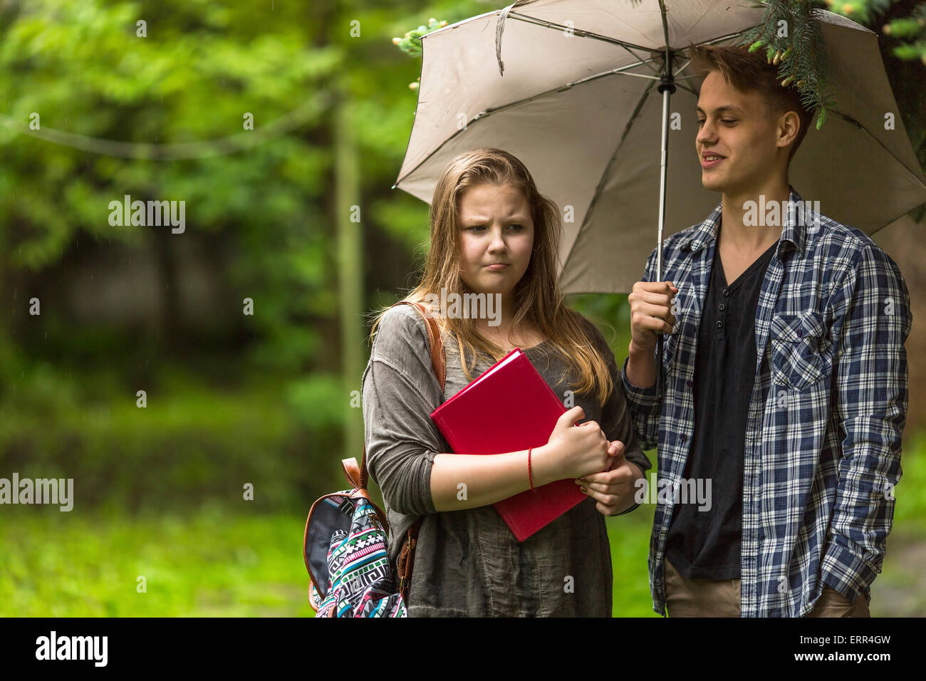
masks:
<svg viewBox="0 0 926 681"><path fill-rule="evenodd" d="M563 215L566 293L626 293L657 244L667 47L665 235L707 218L694 149L690 44L737 44L762 6L715 0L526 0L421 39L419 101L396 187L426 202L446 163L479 146L520 158ZM926 202L875 33L818 10L836 102L811 126L789 180L834 220L873 233ZM893 114L894 129L885 128Z"/></svg>

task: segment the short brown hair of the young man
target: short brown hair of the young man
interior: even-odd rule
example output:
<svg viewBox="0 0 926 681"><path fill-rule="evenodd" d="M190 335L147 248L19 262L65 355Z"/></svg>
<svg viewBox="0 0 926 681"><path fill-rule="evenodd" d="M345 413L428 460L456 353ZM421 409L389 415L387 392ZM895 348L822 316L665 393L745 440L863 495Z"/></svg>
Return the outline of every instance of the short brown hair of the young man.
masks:
<svg viewBox="0 0 926 681"><path fill-rule="evenodd" d="M769 63L765 49L749 52L744 45L692 45L688 48L688 55L695 74L707 76L710 71L720 71L723 80L732 83L737 90L758 92L765 100L770 116L781 116L785 111L797 114L801 125L788 156L788 163L791 163L810 127L813 110L804 107L794 85L782 87L778 80L778 67Z"/></svg>

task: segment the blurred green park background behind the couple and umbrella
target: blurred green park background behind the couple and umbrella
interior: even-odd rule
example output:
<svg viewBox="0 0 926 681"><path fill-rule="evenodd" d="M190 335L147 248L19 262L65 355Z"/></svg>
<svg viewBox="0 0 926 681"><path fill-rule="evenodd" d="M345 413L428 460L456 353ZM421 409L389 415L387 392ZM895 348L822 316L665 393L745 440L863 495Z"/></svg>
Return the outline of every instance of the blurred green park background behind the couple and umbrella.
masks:
<svg viewBox="0 0 926 681"><path fill-rule="evenodd" d="M427 206L390 189L420 69L392 39L496 8L0 3L0 477L73 478L75 496L0 507L0 615L312 614L303 525L360 454L364 315L427 251ZM922 64L885 48L885 65L922 159ZM124 195L184 200L184 233L111 225ZM914 336L875 615L926 613L919 229L884 237ZM623 359L626 296L570 303ZM615 614L656 616L652 508L607 522Z"/></svg>

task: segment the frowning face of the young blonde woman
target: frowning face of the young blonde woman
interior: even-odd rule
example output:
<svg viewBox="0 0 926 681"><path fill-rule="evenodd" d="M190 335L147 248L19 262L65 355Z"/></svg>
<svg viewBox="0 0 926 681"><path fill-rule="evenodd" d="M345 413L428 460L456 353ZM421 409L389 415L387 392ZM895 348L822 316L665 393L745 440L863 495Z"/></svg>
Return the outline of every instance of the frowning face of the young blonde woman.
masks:
<svg viewBox="0 0 926 681"><path fill-rule="evenodd" d="M475 293L507 296L531 262L527 198L513 184L474 184L459 196L459 224L463 281Z"/></svg>

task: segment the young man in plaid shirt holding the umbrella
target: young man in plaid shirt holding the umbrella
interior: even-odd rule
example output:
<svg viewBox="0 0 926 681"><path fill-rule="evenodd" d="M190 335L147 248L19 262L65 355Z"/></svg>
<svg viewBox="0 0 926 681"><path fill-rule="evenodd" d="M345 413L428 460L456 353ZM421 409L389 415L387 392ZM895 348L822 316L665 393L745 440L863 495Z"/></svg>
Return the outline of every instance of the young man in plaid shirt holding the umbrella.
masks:
<svg viewBox="0 0 926 681"><path fill-rule="evenodd" d="M663 282L654 249L623 368L665 490L654 609L868 616L901 474L907 285L865 233L788 183L811 114L776 67L739 47L693 57L706 74L695 146L720 206L669 237Z"/></svg>

